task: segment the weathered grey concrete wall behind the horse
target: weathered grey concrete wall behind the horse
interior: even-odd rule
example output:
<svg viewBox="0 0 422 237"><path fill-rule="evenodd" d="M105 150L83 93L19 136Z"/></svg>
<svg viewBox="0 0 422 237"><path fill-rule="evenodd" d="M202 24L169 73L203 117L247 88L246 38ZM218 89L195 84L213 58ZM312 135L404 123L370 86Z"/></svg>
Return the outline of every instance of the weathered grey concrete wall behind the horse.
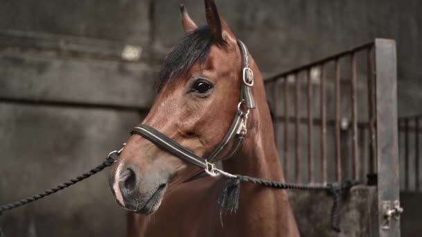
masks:
<svg viewBox="0 0 422 237"><path fill-rule="evenodd" d="M417 70L422 58L421 1L216 2L267 75L373 37L396 39L399 116L421 112L421 72ZM0 96L125 104L145 111L153 100L151 87L157 65L182 36L179 3L1 3ZM203 2L184 3L192 18L204 24ZM142 47L140 62L118 59L124 44ZM101 57L83 57L74 53L77 49ZM0 103L0 115L0 203L49 188L98 164L109 150L120 146L130 128L144 116L112 109L14 103ZM125 232L124 211L112 198L106 173L6 213L0 226L8 236L121 236ZM306 198L301 200L305 201L293 203L299 203L297 207L310 203ZM317 209L326 206L312 203L319 205ZM360 211L359 215L365 213L365 209ZM299 223L304 236L309 236L306 218L300 218Z"/></svg>

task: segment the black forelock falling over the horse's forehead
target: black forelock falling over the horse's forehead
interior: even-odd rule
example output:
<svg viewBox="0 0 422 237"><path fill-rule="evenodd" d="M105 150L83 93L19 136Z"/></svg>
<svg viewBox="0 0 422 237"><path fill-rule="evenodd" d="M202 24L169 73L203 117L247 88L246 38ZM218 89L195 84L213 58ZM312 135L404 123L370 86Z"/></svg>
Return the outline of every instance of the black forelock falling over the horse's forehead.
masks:
<svg viewBox="0 0 422 237"><path fill-rule="evenodd" d="M157 91L171 79L186 73L196 61L204 62L212 43L211 30L206 26L185 35L164 58L158 80L155 82Z"/></svg>

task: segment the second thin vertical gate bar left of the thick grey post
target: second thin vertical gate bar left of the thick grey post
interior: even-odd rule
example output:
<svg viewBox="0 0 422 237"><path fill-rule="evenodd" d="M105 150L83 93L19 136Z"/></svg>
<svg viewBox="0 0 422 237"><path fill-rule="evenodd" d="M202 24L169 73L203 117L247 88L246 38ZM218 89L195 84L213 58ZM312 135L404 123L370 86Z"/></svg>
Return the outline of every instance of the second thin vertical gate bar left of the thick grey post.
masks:
<svg viewBox="0 0 422 237"><path fill-rule="evenodd" d="M357 157L357 105L356 105L356 57L351 54L351 102L352 102L352 157L353 179L359 179L360 160Z"/></svg>

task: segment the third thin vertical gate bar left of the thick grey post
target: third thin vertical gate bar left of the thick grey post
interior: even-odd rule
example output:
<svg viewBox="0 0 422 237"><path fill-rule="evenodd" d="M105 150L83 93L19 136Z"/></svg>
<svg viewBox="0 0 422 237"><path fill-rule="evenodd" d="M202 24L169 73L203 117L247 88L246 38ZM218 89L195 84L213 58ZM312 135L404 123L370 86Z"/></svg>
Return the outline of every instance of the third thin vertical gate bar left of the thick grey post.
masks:
<svg viewBox="0 0 422 237"><path fill-rule="evenodd" d="M336 179L341 182L341 140L340 140L340 65L339 59L334 61L335 67L335 164Z"/></svg>

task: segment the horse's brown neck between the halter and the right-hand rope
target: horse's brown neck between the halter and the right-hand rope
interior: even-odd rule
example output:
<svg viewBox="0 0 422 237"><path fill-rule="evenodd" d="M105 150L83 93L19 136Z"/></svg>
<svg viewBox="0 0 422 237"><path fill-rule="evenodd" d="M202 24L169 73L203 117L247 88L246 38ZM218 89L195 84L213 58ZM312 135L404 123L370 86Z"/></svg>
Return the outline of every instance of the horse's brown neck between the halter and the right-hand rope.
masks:
<svg viewBox="0 0 422 237"><path fill-rule="evenodd" d="M253 96L256 108L251 109L248 133L238 154L223 161L223 168L230 173L249 175L284 182L273 135L273 124L261 73L252 61L254 71Z"/></svg>

